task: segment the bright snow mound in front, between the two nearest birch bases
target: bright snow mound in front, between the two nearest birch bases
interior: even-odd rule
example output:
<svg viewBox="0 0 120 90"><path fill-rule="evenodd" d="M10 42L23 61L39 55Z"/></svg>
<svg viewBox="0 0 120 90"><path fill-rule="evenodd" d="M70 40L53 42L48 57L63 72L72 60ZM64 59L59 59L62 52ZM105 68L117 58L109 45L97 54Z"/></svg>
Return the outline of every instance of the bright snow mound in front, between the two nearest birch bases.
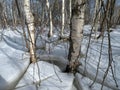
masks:
<svg viewBox="0 0 120 90"><path fill-rule="evenodd" d="M29 66L15 90L75 90L73 81L73 74L62 73L57 66L39 61Z"/></svg>

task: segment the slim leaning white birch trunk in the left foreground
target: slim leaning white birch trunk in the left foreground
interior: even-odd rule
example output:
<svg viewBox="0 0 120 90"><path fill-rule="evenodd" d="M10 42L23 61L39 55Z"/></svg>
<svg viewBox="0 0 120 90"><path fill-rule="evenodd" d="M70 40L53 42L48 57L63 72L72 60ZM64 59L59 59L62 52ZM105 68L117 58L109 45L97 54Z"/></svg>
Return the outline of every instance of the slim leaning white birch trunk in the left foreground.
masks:
<svg viewBox="0 0 120 90"><path fill-rule="evenodd" d="M26 17L26 22L29 31L29 41L30 41L30 56L31 62L36 62L35 58L35 27L34 27L34 17L30 10L30 0L24 0L24 12Z"/></svg>

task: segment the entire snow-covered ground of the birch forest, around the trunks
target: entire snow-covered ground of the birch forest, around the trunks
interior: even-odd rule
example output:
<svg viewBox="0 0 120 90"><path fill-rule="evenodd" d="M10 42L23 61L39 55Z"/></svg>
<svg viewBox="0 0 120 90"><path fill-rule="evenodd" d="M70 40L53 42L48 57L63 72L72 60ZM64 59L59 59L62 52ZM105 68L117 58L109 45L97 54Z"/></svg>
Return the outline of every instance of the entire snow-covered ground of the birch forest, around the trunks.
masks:
<svg viewBox="0 0 120 90"><path fill-rule="evenodd" d="M90 29L90 25L86 25L84 27L84 34L88 35L90 33ZM39 54L42 54L38 55L40 59L36 64L29 65L29 55L26 53L27 49L25 48L24 38L21 35L22 34L18 33L17 31L11 31L10 29L3 31L4 38L2 41L0 41L0 90L13 89L16 84L17 86L15 87L15 90L76 90L73 85L74 78L78 90L101 89L103 76L109 62L107 33L105 34L106 36L102 46L102 56L100 59L98 76L96 78L96 82L91 87L90 85L93 83L97 72L97 65L100 56L100 46L102 41L101 38L97 40L92 37L88 51L88 57L86 59L87 63L85 64L85 53L88 45L88 36L84 36L82 42L83 56L80 59L82 66L79 67L79 73L77 73L74 77L72 74L62 72L68 63L68 61L66 61L69 48L67 42L57 44L49 43L47 45L46 51L50 51L43 53L41 53L41 50L37 51L38 53L40 52ZM45 35L42 37L44 38ZM56 35L53 36L51 40L54 40L56 37ZM48 38L46 39L48 40ZM110 69L104 81L103 90L120 90L119 40L120 27L118 26L116 29L114 29L113 32L111 32L113 54L112 67L118 87L116 87L115 80L113 79L113 75ZM42 44L37 41L37 46L45 45L45 41L41 42ZM52 63L48 63L51 61ZM86 71L84 70L85 65Z"/></svg>

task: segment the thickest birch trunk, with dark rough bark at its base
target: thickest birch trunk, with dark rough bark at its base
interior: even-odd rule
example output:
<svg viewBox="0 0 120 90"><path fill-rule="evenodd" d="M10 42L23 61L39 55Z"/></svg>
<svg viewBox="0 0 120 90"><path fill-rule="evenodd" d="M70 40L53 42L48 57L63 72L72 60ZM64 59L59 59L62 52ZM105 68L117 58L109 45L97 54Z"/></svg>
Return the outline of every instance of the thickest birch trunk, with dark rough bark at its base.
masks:
<svg viewBox="0 0 120 90"><path fill-rule="evenodd" d="M75 73L76 68L79 66L79 55L83 36L85 0L75 0L72 2L72 5L68 60L70 61L69 72Z"/></svg>

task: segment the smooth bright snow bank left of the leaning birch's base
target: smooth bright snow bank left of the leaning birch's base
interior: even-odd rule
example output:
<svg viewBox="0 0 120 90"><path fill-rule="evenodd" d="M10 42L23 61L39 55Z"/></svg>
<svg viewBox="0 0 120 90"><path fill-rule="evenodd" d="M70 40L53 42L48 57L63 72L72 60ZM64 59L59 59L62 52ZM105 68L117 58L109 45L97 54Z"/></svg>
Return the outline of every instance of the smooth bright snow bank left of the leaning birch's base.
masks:
<svg viewBox="0 0 120 90"><path fill-rule="evenodd" d="M9 44L4 40L0 41L0 90L12 90L29 65L29 54Z"/></svg>

